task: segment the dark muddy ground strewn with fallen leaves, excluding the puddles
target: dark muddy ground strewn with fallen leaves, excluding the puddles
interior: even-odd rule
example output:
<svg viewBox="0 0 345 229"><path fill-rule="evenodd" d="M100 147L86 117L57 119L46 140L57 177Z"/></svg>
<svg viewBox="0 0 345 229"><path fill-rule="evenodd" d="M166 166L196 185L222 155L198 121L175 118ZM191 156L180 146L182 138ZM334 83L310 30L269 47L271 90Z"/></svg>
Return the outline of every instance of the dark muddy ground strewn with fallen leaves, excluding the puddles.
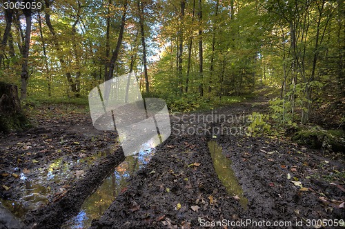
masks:
<svg viewBox="0 0 345 229"><path fill-rule="evenodd" d="M195 114L172 116L172 135L157 147L148 166L130 178L128 188L103 217L92 222L92 228L199 228L201 222L223 219L302 220L305 228L307 219L344 219L342 160L333 161L325 158L322 150L300 147L286 139L214 131L244 126L246 119L241 115L264 112L266 101L263 97L198 113L213 114L211 121L195 120ZM40 177L39 168L46 168L52 161L72 161L68 176L59 182L43 182L50 187L48 203L21 216L28 228L59 228L77 214L83 200L124 156L116 146L115 133L95 130L86 110L63 106L40 109L32 120L38 128L0 137L0 196L19 198L21 173L34 181ZM221 114L237 115L237 120L215 118ZM180 135L181 130L198 126L202 128L193 135ZM210 140L217 141L233 161L232 168L249 201L247 208L219 181L208 150ZM112 150L107 151L110 147ZM99 151L108 153L84 163L75 162ZM60 170L64 165L61 163ZM293 181L301 182L304 189ZM8 228L10 220L0 218L0 228Z"/></svg>

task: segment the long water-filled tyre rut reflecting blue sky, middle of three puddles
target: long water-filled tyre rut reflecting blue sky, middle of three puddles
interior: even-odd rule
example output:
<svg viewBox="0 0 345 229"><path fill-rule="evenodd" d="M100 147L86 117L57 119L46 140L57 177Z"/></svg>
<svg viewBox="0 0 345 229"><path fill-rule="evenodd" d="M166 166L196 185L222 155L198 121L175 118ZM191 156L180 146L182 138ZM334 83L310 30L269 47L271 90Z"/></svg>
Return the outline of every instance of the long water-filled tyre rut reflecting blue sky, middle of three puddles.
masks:
<svg viewBox="0 0 345 229"><path fill-rule="evenodd" d="M126 190L128 178L144 168L155 153L157 143L150 140L143 145L136 155L128 156L116 168L112 169L103 183L83 202L78 215L72 217L61 228L88 228L92 219L99 219L115 200L119 193Z"/></svg>

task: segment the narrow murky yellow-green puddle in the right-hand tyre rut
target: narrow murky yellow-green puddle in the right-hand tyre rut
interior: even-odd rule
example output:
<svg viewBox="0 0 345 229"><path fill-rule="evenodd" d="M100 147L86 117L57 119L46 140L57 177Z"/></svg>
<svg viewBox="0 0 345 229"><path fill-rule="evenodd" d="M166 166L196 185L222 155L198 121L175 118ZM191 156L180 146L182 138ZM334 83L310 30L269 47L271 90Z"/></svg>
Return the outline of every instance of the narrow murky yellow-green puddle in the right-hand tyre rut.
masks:
<svg viewBox="0 0 345 229"><path fill-rule="evenodd" d="M223 150L216 141L209 141L208 148L210 149L213 166L219 180L225 186L227 192L230 195L237 195L237 197L239 197L239 203L243 208L246 209L248 206L248 199L244 197L243 189L239 185L237 177L235 176L235 172L231 168L231 164L233 162L223 155Z"/></svg>

